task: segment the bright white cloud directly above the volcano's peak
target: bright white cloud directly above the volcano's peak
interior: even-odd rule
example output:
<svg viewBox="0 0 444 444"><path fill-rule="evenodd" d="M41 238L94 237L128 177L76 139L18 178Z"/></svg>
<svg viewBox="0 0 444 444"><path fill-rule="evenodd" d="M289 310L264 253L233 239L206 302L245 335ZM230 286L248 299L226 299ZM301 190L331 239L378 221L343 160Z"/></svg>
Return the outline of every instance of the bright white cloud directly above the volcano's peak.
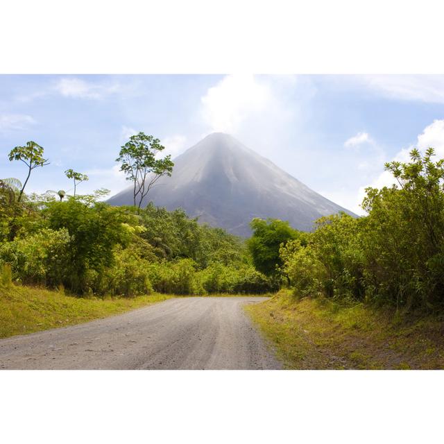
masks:
<svg viewBox="0 0 444 444"><path fill-rule="evenodd" d="M315 92L312 80L303 76L232 74L203 94L196 120L203 122L204 135L229 133L276 162L278 147L296 148L291 135L304 133Z"/></svg>

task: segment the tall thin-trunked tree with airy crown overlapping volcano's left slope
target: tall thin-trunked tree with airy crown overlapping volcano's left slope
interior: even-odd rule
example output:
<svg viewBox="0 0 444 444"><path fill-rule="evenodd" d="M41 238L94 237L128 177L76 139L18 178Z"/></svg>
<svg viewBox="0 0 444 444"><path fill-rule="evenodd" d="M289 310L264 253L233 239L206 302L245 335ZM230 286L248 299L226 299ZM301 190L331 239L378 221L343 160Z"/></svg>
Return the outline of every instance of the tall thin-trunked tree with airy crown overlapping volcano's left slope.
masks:
<svg viewBox="0 0 444 444"><path fill-rule="evenodd" d="M164 149L159 139L144 133L131 136L121 147L116 162L121 162L120 171L126 174L126 180L133 182L134 206L138 210L155 182L162 176L171 176L174 166L171 155L155 158Z"/></svg>

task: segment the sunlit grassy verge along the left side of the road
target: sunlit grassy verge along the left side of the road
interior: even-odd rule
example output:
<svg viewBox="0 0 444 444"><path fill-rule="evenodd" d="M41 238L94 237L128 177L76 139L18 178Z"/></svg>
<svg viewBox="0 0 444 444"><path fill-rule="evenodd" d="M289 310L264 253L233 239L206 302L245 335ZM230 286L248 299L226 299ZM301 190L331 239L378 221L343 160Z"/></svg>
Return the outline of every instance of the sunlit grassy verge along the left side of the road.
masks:
<svg viewBox="0 0 444 444"><path fill-rule="evenodd" d="M164 294L136 298L76 298L59 291L0 286L0 338L105 318L172 298Z"/></svg>

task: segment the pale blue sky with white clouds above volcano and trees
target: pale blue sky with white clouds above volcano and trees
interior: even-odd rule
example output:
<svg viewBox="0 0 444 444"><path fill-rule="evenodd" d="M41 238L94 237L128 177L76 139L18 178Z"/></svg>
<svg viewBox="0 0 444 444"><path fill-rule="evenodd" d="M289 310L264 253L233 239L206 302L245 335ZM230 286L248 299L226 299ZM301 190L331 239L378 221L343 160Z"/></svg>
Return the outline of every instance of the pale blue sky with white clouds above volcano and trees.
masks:
<svg viewBox="0 0 444 444"><path fill-rule="evenodd" d="M444 156L444 76L0 76L0 177L23 179L11 148L34 140L51 164L27 191L125 187L114 162L133 133L173 157L213 131L237 137L350 210L368 185L388 185L384 162L413 146Z"/></svg>

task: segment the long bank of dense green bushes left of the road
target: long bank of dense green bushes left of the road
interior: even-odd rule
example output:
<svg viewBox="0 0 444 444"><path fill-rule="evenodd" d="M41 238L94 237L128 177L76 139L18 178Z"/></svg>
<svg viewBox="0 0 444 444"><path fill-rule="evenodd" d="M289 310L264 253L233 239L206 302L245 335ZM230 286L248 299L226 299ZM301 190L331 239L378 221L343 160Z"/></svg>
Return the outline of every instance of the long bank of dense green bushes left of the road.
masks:
<svg viewBox="0 0 444 444"><path fill-rule="evenodd" d="M224 230L199 225L182 210L148 205L136 212L96 197L62 201L24 195L19 211L0 213L6 228L15 221L15 239L7 241L6 233L0 241L0 263L12 267L13 280L62 285L79 295L262 293L273 288L248 264L244 241Z"/></svg>

